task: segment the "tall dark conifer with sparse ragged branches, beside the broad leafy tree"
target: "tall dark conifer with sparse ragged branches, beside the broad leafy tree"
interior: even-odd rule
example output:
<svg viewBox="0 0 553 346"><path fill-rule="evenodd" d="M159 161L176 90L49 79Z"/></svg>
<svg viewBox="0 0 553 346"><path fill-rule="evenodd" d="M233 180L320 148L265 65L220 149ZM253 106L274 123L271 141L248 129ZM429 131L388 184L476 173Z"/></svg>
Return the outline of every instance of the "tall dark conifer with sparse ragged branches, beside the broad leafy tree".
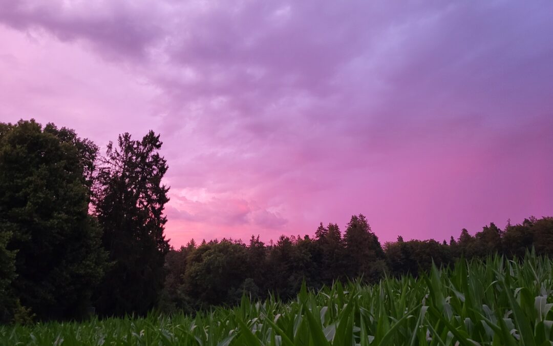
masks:
<svg viewBox="0 0 553 346"><path fill-rule="evenodd" d="M97 299L102 314L145 314L163 288L169 188L161 183L168 169L161 144L153 131L141 141L124 133L117 147L108 144L98 169L94 208L111 261Z"/></svg>

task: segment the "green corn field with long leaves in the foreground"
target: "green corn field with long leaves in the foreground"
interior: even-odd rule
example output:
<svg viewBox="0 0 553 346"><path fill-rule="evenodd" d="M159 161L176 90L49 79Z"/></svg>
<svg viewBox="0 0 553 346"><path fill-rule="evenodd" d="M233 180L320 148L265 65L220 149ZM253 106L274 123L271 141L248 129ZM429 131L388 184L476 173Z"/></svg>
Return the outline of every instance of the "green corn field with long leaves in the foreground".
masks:
<svg viewBox="0 0 553 346"><path fill-rule="evenodd" d="M461 260L418 278L385 278L288 303L247 297L234 308L145 318L0 327L1 345L553 345L546 257Z"/></svg>

